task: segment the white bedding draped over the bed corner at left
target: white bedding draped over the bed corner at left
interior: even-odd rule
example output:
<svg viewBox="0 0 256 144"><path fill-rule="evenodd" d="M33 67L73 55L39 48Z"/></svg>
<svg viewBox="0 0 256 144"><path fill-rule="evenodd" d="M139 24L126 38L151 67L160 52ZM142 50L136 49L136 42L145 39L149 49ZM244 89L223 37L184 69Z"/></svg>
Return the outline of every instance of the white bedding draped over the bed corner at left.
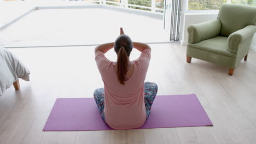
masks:
<svg viewBox="0 0 256 144"><path fill-rule="evenodd" d="M30 81L30 71L11 52L0 47L0 96L18 78Z"/></svg>

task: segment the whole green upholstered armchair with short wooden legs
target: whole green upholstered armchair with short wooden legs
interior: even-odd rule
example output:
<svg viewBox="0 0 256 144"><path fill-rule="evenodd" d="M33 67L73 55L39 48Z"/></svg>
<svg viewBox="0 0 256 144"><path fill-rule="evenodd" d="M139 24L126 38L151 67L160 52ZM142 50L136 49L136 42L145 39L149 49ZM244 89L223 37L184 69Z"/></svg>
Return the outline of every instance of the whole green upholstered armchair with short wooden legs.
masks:
<svg viewBox="0 0 256 144"><path fill-rule="evenodd" d="M229 68L234 74L236 65L245 58L256 32L256 7L223 4L217 20L188 27L187 62L191 58Z"/></svg>

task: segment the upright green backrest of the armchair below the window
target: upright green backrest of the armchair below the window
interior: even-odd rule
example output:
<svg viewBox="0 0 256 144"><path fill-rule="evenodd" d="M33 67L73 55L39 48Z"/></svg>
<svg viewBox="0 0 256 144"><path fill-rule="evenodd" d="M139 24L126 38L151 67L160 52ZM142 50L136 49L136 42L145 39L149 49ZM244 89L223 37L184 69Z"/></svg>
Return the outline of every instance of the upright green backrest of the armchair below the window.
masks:
<svg viewBox="0 0 256 144"><path fill-rule="evenodd" d="M222 22L220 35L229 37L231 33L248 25L256 25L256 7L240 4L223 4L218 19Z"/></svg>

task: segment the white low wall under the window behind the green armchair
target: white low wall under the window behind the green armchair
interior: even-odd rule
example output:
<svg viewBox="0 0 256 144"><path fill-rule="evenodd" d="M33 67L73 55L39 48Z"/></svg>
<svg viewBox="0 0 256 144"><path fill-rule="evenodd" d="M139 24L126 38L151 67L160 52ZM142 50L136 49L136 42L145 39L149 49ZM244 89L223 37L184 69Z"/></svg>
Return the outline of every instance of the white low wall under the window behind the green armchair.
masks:
<svg viewBox="0 0 256 144"><path fill-rule="evenodd" d="M181 44L188 44L188 31L187 28L190 25L194 25L196 23L202 23L206 21L216 20L218 17L218 11L214 13L183 13L182 25L181 25ZM256 51L256 33L254 34L251 49Z"/></svg>

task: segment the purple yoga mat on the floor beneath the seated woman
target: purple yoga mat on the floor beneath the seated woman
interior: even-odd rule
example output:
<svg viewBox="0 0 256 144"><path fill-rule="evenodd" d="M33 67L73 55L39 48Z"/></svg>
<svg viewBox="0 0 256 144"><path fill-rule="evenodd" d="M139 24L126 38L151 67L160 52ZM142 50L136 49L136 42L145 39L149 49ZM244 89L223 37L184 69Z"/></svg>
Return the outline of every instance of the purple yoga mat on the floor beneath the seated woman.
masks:
<svg viewBox="0 0 256 144"><path fill-rule="evenodd" d="M140 129L212 125L195 94L157 95ZM57 99L43 131L110 130L94 98Z"/></svg>

